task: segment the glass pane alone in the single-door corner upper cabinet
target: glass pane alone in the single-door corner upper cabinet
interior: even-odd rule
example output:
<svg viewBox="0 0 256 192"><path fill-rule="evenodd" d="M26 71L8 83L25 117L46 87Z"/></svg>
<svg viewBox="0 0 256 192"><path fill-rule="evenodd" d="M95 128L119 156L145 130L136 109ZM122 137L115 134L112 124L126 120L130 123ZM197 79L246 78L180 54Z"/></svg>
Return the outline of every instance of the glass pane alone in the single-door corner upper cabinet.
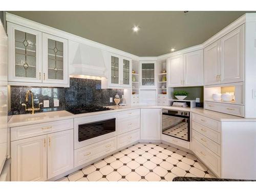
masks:
<svg viewBox="0 0 256 192"><path fill-rule="evenodd" d="M142 86L155 85L155 67L154 63L142 63Z"/></svg>

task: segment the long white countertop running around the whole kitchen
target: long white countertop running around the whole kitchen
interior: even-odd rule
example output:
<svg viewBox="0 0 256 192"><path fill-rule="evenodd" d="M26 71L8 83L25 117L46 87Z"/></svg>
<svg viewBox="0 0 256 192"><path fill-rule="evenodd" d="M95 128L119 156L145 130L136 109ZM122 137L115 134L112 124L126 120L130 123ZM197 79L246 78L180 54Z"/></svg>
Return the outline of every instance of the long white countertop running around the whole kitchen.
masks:
<svg viewBox="0 0 256 192"><path fill-rule="evenodd" d="M35 123L43 123L43 122L50 122L50 121L57 121L57 120L64 120L64 119L72 119L77 117L86 117L92 115L99 115L104 113L113 113L113 112L120 112L132 109L150 109L150 108L157 108L157 109L170 109L170 110L180 110L180 111L190 111L199 115L203 115L218 121L256 121L256 119L248 119L242 118L232 115L227 115L223 113L213 112L209 110L204 110L202 108L179 108L174 106L164 106L164 105L129 105L129 106L109 106L109 108L114 109L110 111L100 111L100 112L93 112L93 113L83 113L74 115L67 111L54 111L54 112L45 112L45 113L36 113L34 115L25 114L25 115L13 115L10 120L8 121L9 127L14 126L23 126Z"/></svg>

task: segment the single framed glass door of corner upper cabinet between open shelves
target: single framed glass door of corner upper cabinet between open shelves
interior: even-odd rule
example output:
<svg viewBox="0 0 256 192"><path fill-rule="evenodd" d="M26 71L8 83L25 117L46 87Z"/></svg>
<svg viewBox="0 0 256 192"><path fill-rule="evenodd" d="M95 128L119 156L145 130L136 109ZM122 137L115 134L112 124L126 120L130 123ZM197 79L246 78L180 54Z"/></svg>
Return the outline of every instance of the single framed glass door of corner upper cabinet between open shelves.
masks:
<svg viewBox="0 0 256 192"><path fill-rule="evenodd" d="M140 87L156 88L156 61L140 61Z"/></svg>

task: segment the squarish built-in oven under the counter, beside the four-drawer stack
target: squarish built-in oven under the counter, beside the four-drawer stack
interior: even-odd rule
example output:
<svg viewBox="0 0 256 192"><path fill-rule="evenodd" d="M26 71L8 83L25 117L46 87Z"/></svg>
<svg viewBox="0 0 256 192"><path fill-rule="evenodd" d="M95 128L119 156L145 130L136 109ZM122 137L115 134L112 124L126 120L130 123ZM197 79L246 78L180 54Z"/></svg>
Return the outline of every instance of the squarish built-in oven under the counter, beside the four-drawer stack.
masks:
<svg viewBox="0 0 256 192"><path fill-rule="evenodd" d="M190 114L162 109L162 134L190 141Z"/></svg>

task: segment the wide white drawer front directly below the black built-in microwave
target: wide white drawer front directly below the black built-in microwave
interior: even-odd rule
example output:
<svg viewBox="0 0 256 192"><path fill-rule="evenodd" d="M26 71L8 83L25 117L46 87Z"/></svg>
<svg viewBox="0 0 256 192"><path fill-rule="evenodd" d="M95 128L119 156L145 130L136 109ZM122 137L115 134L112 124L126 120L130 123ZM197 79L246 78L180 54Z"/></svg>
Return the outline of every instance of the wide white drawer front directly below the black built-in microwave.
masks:
<svg viewBox="0 0 256 192"><path fill-rule="evenodd" d="M75 167L116 151L116 137L75 150Z"/></svg>

